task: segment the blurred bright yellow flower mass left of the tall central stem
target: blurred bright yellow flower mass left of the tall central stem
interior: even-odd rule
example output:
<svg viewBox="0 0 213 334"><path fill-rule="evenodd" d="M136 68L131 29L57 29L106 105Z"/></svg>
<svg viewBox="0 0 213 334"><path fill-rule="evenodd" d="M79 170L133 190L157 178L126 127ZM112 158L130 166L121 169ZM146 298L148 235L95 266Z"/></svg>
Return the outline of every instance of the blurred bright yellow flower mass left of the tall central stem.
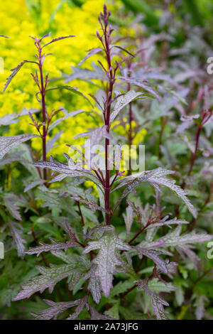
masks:
<svg viewBox="0 0 213 334"><path fill-rule="evenodd" d="M42 0L40 1L40 16L36 19L35 12L26 6L26 1L5 0L1 6L1 33L10 36L9 39L1 38L0 48L1 57L4 58L4 75L0 77L0 90L3 90L6 77L11 74L10 69L15 68L22 60L35 60L35 46L33 40L28 36L42 36L44 31L52 31L52 35L46 38L45 41L50 41L51 38L66 35L76 35L76 38L70 38L65 41L59 41L48 46L46 52L52 55L45 58L44 72L49 72L50 78L61 77L62 73L71 73L71 66L76 66L80 62L86 50L99 45L95 31L99 28L97 16L99 11L102 11L104 0L87 0L83 6L69 6L67 3L61 6L60 11L55 14L53 22L50 24L50 18L57 8L59 0ZM98 56L92 61L97 60ZM87 68L91 67L90 60L87 61ZM31 78L31 72L35 72L35 65L25 64L20 72L14 77L4 95L0 95L0 117L13 112L21 112L23 107L40 108L40 104L35 99L35 92L38 88ZM50 87L54 85L62 85L62 82L51 82ZM89 85L87 82L75 80L70 82L70 85L79 87L79 90L87 95L87 92L94 93L96 88ZM47 93L46 104L48 112L58 107L65 107L67 112L72 110L82 109L91 112L92 109L88 102L81 97L72 95L70 92L54 91ZM39 114L38 117L41 119ZM62 113L58 117L62 117ZM55 118L56 119L56 118ZM55 120L53 119L53 121ZM16 135L18 133L36 133L35 128L29 125L31 119L28 116L22 117L21 122L13 124L6 135ZM66 119L53 130L53 135L56 131L63 131L62 136L58 141L57 148L54 153L62 156L63 151L67 151L66 143L75 143L73 136L80 132L86 131L88 128L97 126L94 119L85 114L79 114L76 117ZM79 139L78 139L79 144ZM40 139L32 141L33 149L40 149Z"/></svg>

